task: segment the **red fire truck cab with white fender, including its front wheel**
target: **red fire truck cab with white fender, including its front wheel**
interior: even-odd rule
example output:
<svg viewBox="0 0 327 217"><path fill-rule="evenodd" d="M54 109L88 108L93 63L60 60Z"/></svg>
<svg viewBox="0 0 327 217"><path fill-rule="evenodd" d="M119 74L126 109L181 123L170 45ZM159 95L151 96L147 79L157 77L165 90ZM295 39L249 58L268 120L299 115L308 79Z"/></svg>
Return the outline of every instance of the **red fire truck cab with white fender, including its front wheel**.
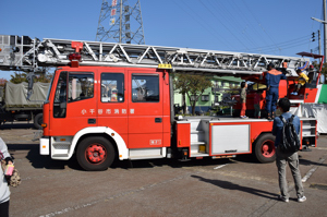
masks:
<svg viewBox="0 0 327 217"><path fill-rule="evenodd" d="M69 159L76 152L85 169L108 167L116 157L166 157L170 147L165 70L60 68L44 110L41 154Z"/></svg>

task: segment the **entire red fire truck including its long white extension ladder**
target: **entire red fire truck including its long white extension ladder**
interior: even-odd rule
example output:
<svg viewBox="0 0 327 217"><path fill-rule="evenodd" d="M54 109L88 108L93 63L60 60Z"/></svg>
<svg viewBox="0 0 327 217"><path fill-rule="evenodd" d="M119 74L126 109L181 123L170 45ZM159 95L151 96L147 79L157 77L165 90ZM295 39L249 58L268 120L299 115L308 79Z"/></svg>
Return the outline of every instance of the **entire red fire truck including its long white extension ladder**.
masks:
<svg viewBox="0 0 327 217"><path fill-rule="evenodd" d="M270 62L279 65L288 60L287 70L294 75L294 70L308 61L145 45L8 35L0 38L1 70L37 72L57 67L44 104L40 154L58 160L75 154L85 170L105 170L114 159L223 158L241 154L271 162L271 121L175 118L171 75L234 75L256 81ZM301 147L316 146L316 128L315 118L301 119Z"/></svg>

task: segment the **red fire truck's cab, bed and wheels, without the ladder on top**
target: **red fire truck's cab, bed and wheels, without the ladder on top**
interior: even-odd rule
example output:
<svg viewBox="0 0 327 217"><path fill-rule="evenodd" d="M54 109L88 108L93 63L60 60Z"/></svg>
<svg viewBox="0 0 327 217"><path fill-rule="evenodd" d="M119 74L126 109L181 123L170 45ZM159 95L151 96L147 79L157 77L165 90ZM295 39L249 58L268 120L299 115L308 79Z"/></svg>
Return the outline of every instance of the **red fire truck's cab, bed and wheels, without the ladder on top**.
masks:
<svg viewBox="0 0 327 217"><path fill-rule="evenodd" d="M106 169L116 158L253 154L262 162L275 160L271 121L175 118L169 74L154 68L58 68L44 105L40 154L68 160L75 153L86 170ZM282 81L280 97L286 85ZM300 136L302 144L316 145L314 118L301 119Z"/></svg>

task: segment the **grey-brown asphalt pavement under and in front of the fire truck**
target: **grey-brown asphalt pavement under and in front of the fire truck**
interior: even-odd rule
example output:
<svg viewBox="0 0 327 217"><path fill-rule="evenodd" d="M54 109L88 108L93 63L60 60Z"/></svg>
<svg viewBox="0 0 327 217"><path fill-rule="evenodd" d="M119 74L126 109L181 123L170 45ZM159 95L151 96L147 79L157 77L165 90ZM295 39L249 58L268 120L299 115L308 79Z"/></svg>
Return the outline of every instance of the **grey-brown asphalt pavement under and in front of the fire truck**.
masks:
<svg viewBox="0 0 327 217"><path fill-rule="evenodd" d="M275 164L250 156L232 159L119 161L100 172L83 171L76 159L38 154L32 124L1 125L22 184L11 188L10 216L327 216L327 135L299 152L307 201L279 194Z"/></svg>

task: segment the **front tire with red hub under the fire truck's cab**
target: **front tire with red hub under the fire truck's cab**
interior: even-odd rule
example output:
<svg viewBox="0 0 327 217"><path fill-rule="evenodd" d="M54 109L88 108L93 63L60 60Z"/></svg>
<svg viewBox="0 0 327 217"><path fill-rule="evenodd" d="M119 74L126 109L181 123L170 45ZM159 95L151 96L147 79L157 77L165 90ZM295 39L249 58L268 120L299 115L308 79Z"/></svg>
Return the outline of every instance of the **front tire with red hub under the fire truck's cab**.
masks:
<svg viewBox="0 0 327 217"><path fill-rule="evenodd" d="M86 137L77 146L76 157L83 169L100 171L111 166L116 152L105 137Z"/></svg>

